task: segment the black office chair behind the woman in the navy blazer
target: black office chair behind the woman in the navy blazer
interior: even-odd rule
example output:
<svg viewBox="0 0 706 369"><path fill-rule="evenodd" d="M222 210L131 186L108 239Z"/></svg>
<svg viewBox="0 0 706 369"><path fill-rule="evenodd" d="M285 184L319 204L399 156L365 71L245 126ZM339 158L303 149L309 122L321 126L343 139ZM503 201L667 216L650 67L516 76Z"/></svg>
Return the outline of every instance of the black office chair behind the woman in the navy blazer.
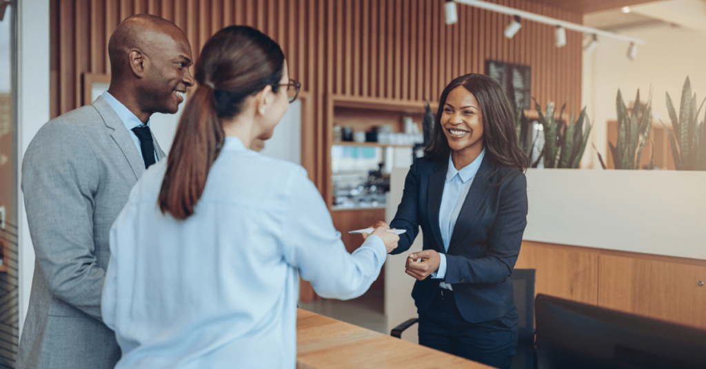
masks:
<svg viewBox="0 0 706 369"><path fill-rule="evenodd" d="M534 365L534 269L515 269L510 276L513 281L515 306L520 322L517 325L517 354L513 359L512 369L532 369ZM394 327L390 335L401 338L405 329L414 325L417 318L403 322Z"/></svg>

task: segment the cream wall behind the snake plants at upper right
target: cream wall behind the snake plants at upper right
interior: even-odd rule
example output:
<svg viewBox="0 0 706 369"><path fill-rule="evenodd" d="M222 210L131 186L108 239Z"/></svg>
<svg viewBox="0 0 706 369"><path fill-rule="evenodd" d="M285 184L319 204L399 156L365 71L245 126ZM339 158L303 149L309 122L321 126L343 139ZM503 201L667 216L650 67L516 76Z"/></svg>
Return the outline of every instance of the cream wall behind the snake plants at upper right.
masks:
<svg viewBox="0 0 706 369"><path fill-rule="evenodd" d="M652 85L652 110L654 119L661 118L668 126L665 92L678 111L681 87L686 76L691 81L692 92L699 104L706 97L706 33L688 28L659 26L642 28L624 35L645 40L638 47L638 57L628 60L628 44L602 38L599 47L590 56L584 56L583 104L595 123L592 140L605 158L606 121L615 120L618 88L623 100L630 104L640 89L640 100L644 100ZM702 111L703 114L703 111ZM703 119L703 116L700 117ZM585 157L584 167L601 168L595 150L587 145L591 155Z"/></svg>

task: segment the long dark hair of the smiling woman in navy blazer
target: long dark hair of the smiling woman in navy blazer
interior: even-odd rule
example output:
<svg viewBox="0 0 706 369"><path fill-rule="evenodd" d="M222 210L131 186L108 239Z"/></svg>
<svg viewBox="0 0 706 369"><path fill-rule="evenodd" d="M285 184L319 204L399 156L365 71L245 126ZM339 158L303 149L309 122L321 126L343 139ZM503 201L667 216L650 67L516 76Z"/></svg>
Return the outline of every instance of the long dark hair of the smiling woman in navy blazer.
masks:
<svg viewBox="0 0 706 369"><path fill-rule="evenodd" d="M439 107L431 141L424 150L424 156L431 159L448 158L451 148L441 125L441 115L449 92L463 86L471 92L480 104L483 114L483 145L486 157L493 163L525 171L529 165L527 155L520 149L515 131L515 118L507 97L500 85L487 75L471 73L451 81L441 92Z"/></svg>

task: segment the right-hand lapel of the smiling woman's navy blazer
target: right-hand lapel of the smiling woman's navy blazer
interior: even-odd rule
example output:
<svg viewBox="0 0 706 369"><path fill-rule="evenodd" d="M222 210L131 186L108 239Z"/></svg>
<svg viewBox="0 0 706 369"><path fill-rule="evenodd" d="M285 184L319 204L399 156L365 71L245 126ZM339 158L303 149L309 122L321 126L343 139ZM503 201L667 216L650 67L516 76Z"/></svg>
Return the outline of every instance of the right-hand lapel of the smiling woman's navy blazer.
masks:
<svg viewBox="0 0 706 369"><path fill-rule="evenodd" d="M481 167L478 169L478 172L473 179L473 183L471 184L471 188L468 190L468 194L463 202L461 211L458 213L457 219L469 219L478 212L481 204L486 198L486 195L488 195L488 190L490 190L492 186L490 177L495 169L495 165L489 161L488 155L483 157ZM453 250L453 248L457 247L462 239L465 238L467 229L458 225L459 222L456 222L456 226L453 228L453 234L451 234L451 241L448 244L449 253Z"/></svg>

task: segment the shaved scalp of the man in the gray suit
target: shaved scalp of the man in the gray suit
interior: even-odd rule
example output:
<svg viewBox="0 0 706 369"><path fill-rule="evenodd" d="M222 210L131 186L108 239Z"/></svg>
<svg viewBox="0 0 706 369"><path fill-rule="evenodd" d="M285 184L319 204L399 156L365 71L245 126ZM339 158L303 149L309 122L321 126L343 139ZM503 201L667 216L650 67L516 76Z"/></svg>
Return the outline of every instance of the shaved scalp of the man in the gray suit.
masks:
<svg viewBox="0 0 706 369"><path fill-rule="evenodd" d="M131 49L149 53L155 37L169 37L175 41L186 40L186 35L169 20L149 14L136 14L123 20L108 42L108 56L113 75L129 69ZM188 41L187 41L188 42Z"/></svg>

